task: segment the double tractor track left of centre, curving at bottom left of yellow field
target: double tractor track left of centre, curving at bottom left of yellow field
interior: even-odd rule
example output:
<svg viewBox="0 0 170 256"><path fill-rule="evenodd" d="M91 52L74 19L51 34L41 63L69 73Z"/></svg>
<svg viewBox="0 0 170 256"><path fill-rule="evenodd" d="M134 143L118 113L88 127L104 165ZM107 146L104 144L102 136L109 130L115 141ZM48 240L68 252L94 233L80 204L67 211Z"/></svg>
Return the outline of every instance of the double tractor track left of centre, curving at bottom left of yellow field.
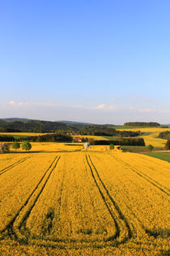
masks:
<svg viewBox="0 0 170 256"><path fill-rule="evenodd" d="M22 239L19 239L22 241L27 240L27 238L20 233L19 229L23 225L23 222L26 219L28 219L28 216L30 215L32 208L35 206L36 201L40 197L40 194L45 189L45 185L47 184L49 177L51 176L53 170L55 169L55 167L57 167L57 163L60 160L60 158L61 157L59 156L59 157L55 157L53 159L53 162L50 164L49 168L45 171L44 175L40 178L39 182L36 184L35 189L32 190L32 193L28 196L27 200L23 203L23 206L21 206L19 208L19 210L17 211L15 216L6 225L6 227L0 231L0 240L2 240L5 236L10 236L11 239L22 238ZM45 176L47 176L47 177L45 177ZM40 188L40 185L41 185L41 188ZM32 199L32 197L34 197L37 189L39 189L39 192L36 194L35 198ZM29 206L29 204L30 204L30 206ZM25 208L27 206L29 206L29 207L27 210L25 210ZM25 210L25 212L24 212L24 210ZM22 213L23 213L23 215L22 215ZM20 215L22 215L22 217L19 221L18 218L20 217ZM17 221L19 222L18 225L15 224L15 222L17 222Z"/></svg>

